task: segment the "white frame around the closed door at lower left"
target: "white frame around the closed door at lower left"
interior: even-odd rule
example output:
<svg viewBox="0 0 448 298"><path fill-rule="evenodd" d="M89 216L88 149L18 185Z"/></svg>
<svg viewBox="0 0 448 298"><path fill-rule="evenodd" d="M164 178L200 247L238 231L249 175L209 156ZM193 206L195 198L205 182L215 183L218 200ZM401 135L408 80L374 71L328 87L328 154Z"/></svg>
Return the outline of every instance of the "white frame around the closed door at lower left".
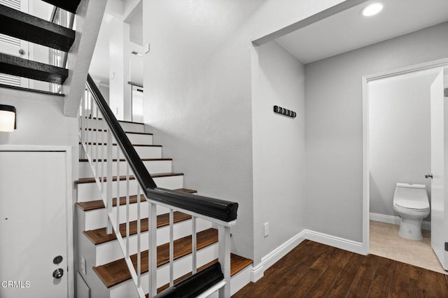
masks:
<svg viewBox="0 0 448 298"><path fill-rule="evenodd" d="M0 152L64 152L66 171L67 297L74 298L73 156L71 146L0 145Z"/></svg>

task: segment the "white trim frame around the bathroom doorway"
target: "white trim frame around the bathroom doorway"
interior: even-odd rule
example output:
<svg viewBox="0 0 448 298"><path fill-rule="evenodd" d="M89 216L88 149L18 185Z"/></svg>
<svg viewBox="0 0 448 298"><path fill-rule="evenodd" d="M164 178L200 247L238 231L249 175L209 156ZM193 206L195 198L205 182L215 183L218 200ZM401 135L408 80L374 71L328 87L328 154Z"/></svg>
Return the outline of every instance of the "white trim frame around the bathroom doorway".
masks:
<svg viewBox="0 0 448 298"><path fill-rule="evenodd" d="M370 164L369 164L369 83L381 78L399 76L426 69L448 67L448 58L437 59L421 64L405 66L399 69L381 71L362 77L363 87L363 254L370 250Z"/></svg>

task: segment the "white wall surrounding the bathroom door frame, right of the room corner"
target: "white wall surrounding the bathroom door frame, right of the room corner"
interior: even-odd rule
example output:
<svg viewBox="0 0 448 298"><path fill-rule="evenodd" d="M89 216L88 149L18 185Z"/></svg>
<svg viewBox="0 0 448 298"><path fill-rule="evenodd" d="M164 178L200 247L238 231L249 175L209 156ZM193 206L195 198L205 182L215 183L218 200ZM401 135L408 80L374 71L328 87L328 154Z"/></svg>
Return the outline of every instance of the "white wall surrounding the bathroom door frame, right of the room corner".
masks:
<svg viewBox="0 0 448 298"><path fill-rule="evenodd" d="M305 65L307 228L362 242L362 76L448 57L448 23Z"/></svg>

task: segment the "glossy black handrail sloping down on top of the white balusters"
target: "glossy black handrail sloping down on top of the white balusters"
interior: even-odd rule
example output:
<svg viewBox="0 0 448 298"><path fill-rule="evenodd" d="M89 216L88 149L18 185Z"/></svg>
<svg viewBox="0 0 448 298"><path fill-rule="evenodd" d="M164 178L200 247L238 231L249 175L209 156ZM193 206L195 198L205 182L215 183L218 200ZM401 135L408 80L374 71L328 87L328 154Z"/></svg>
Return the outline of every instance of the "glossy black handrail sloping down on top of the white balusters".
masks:
<svg viewBox="0 0 448 298"><path fill-rule="evenodd" d="M224 201L221 199L213 199L197 194L186 194L183 192L175 192L157 187L151 174L141 161L137 151L127 138L127 135L111 108L106 103L97 85L95 85L92 77L87 75L87 88L92 93L94 101L97 103L99 110L102 112L104 120L109 125L111 133L115 137L118 146L120 146L127 162L129 162L135 179L142 187L142 191L148 199L159 201L162 204L183 208L197 214L206 215L211 218L231 222L237 219L238 203L232 201Z"/></svg>

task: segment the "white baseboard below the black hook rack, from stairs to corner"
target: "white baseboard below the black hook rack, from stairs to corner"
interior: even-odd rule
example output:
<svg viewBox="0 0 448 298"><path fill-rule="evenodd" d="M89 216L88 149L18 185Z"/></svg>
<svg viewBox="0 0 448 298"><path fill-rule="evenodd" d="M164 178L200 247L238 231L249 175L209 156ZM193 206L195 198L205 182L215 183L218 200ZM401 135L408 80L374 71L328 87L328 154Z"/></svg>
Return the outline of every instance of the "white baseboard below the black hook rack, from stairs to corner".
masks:
<svg viewBox="0 0 448 298"><path fill-rule="evenodd" d="M251 281L255 283L265 274L265 270L271 267L273 264L278 262L282 257L289 253L293 248L298 246L302 241L304 241L304 230L299 234L293 236L285 243L281 244L278 248L272 250L264 257L261 258L260 264L251 269Z"/></svg>

